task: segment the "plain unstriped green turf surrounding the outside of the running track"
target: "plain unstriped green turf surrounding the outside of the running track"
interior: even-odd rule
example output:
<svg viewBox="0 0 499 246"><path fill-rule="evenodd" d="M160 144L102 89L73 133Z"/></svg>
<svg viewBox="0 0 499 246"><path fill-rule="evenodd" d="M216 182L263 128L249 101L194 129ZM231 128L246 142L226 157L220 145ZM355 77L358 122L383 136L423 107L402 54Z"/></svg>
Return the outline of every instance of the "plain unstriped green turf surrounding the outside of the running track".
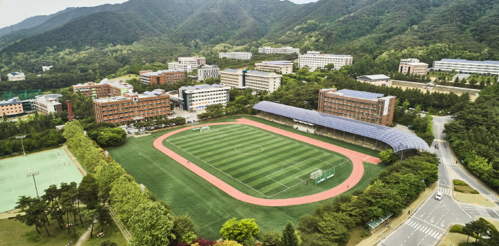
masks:
<svg viewBox="0 0 499 246"><path fill-rule="evenodd" d="M237 118L240 117L231 117L214 122L233 122ZM306 135L310 138L329 142L347 149L353 149L360 153L366 153L372 156L376 156L378 153L377 151L363 148L362 146L356 146L355 144L349 144L347 142L334 140L321 135L310 135L309 133L296 131L292 129L292 127L282 126L258 117L248 116L247 118L256 122L269 124L271 126L281 127L281 129L286 129L287 131ZM211 129L211 131L216 130L213 127ZM294 205L287 207L265 207L252 205L232 198L227 195L227 193L220 191L220 189L214 187L206 180L183 167L182 164L173 161L168 156L164 155L164 153L161 153L155 149L154 146L152 146L152 142L156 138L168 131L173 131L173 129L155 132L152 133L152 135L141 138L127 138L127 140L125 140L125 144L122 146L107 149L107 151L111 153L112 157L119 162L122 167L137 180L137 182L143 183L150 191L155 193L158 198L165 200L170 205L175 216L184 214L191 216L191 218L193 218L193 220L195 220L200 227L201 237L211 240L218 239L220 237L220 227L226 220L232 217L236 217L238 219L255 218L256 223L258 223L262 232L268 231L269 229L279 231L285 227L288 220L297 225L297 221L301 216L304 216L305 214L312 214L313 209L317 206L317 202L313 202L306 205ZM183 133L189 134L192 132L185 131ZM165 146L167 145L168 142L165 142ZM236 146L232 147L234 149ZM141 155L139 155L139 153ZM177 153L182 155L182 157L191 160L194 164L203 167L203 169L205 167L210 167L208 164L204 164L204 162L196 160L192 155L180 149ZM331 155L334 155L334 153L331 152ZM376 177L378 173L383 170L383 166L380 164L375 165L365 163L364 167L364 176L354 187L354 189L365 189L365 187L369 185L369 180ZM335 178L340 175L340 171L337 169L336 173L337 176ZM350 172L347 173L347 176L349 176L349 174ZM225 182L228 182L227 180L229 179L234 180L223 173L217 177ZM299 189L295 192L304 193L304 191L308 191L305 189L317 189L317 192L331 189L334 187L333 183L335 182L335 178L331 178L330 180L327 180L317 186L311 185L310 183L308 185L298 185L295 188ZM232 185L232 183L230 184ZM240 186L246 187L242 184L240 184ZM240 189L240 187L236 188ZM252 191L252 189L247 189ZM291 190L288 190L283 193L291 193L290 191ZM254 193L248 194L251 196L259 194L256 191L252 192ZM282 196L281 198L286 198L283 196L283 193L279 196ZM262 195L260 194L260 196ZM272 198L277 198L277 196Z"/></svg>

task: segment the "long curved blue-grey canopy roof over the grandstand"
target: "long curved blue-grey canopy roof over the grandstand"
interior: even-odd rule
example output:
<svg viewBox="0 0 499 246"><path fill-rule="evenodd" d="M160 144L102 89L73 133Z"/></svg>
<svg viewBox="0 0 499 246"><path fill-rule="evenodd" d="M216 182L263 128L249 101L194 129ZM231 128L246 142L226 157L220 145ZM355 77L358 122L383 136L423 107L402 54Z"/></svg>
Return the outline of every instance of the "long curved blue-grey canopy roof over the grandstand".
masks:
<svg viewBox="0 0 499 246"><path fill-rule="evenodd" d="M389 146L392 146L394 152L406 149L430 149L430 146L428 146L426 142L416 135L412 135L411 133L406 133L405 131L388 126L361 122L347 117L319 113L317 111L310 111L304 108L297 108L294 106L287 106L268 101L259 102L253 106L253 108L259 111L274 113L276 115L290 117L295 120L310 122L312 124L318 124L320 126L346 131L347 133L353 133L367 138L380 140L386 142Z"/></svg>

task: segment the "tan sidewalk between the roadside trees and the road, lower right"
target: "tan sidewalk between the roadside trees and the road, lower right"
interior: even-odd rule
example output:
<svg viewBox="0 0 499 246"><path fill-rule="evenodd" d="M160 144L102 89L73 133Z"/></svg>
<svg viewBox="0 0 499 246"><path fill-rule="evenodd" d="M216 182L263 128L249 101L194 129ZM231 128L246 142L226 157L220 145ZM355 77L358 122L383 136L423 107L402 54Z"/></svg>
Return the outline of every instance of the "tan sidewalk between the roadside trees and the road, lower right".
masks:
<svg viewBox="0 0 499 246"><path fill-rule="evenodd" d="M376 227L373 231L371 231L372 235L369 236L369 238L366 238L360 243L358 243L358 246L372 246L372 245L377 245L378 242L388 236L392 231L395 231L399 226L401 226L405 220L410 218L412 214L416 213L417 209L423 204L423 202L428 199L432 193L435 191L435 188L437 187L437 182L433 183L430 187L426 188L421 195L419 195L419 198L417 200L414 200L414 202L409 205L409 207L406 207L403 209L402 214L400 214L397 217L392 217L391 220L389 220L389 225L390 227L384 227L383 225L379 225ZM409 214L409 210L411 213Z"/></svg>

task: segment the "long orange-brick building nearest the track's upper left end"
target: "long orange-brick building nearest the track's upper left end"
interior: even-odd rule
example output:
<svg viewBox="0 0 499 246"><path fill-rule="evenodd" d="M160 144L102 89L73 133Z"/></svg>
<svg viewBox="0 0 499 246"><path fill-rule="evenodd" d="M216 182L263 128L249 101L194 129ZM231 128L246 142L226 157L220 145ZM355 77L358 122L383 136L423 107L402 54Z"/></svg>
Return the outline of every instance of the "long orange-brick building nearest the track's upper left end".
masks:
<svg viewBox="0 0 499 246"><path fill-rule="evenodd" d="M128 124L154 117L167 117L170 113L170 95L155 89L143 94L124 93L118 97L94 99L96 123Z"/></svg>

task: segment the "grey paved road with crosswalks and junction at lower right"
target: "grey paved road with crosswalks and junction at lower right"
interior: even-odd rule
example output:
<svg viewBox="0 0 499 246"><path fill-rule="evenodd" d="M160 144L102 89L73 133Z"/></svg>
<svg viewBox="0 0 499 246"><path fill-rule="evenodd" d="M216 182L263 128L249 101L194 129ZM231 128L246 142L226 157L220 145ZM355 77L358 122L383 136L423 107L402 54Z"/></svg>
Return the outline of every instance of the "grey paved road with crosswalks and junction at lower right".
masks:
<svg viewBox="0 0 499 246"><path fill-rule="evenodd" d="M499 205L499 198L482 187L476 180L469 176L456 164L455 158L450 153L448 143L445 141L444 124L452 120L450 117L434 117L435 141L430 152L437 153L441 164L439 165L439 181L435 192L419 209L396 229L387 238L381 241L385 246L430 246L435 245L441 236L444 236L450 223L469 223L477 216L499 218L498 207L485 207L453 200L452 180L457 178L468 183L482 196ZM435 149L435 144L439 149ZM433 197L436 192L444 193L441 200Z"/></svg>

